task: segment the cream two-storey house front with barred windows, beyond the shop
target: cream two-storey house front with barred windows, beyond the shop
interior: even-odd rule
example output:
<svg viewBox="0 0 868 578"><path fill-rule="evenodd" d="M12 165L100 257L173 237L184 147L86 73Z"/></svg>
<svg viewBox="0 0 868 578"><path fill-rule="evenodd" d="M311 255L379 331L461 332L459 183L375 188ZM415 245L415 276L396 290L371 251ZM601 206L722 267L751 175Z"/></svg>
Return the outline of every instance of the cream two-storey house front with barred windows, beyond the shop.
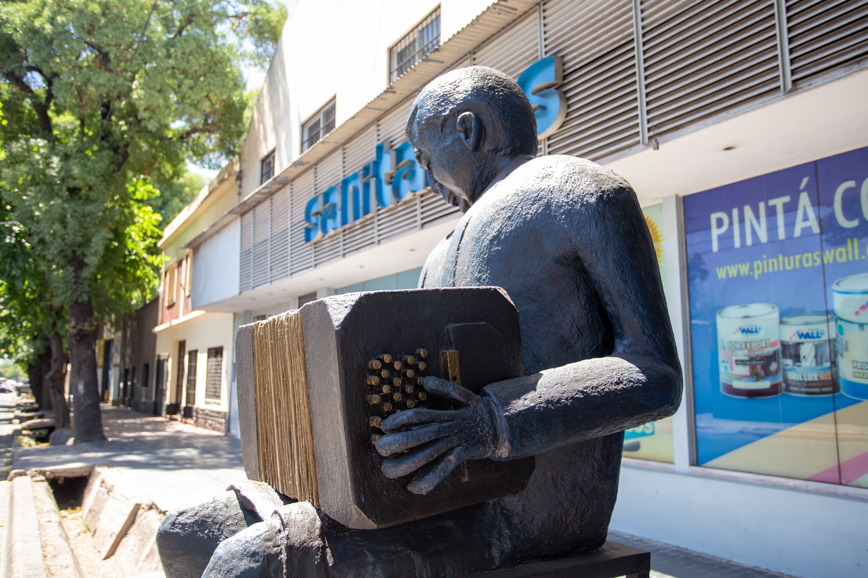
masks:
<svg viewBox="0 0 868 578"><path fill-rule="evenodd" d="M162 290L155 367L164 392L160 413L216 432L227 432L232 407L234 327L231 313L192 305L194 256L184 245L238 203L239 167L233 159L163 231ZM220 276L220 267L213 270Z"/></svg>

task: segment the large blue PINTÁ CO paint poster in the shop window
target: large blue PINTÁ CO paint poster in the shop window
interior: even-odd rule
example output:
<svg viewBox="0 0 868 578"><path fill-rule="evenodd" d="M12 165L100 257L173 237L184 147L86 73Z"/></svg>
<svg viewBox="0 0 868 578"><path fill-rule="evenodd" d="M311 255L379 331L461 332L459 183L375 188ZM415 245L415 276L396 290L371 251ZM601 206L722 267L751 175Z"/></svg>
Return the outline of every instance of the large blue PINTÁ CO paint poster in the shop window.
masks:
<svg viewBox="0 0 868 578"><path fill-rule="evenodd" d="M684 217L699 464L868 487L868 148Z"/></svg>

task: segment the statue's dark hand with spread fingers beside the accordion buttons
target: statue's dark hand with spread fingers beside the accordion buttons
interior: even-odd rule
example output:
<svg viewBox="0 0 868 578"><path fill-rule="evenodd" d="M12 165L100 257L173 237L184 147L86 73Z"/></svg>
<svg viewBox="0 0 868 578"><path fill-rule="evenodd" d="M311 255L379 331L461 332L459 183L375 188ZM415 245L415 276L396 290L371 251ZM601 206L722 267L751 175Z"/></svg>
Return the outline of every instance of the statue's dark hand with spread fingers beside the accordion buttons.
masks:
<svg viewBox="0 0 868 578"><path fill-rule="evenodd" d="M461 409L437 411L411 409L384 419L380 428L385 436L375 447L388 458L383 462L385 477L401 477L418 471L407 489L427 494L465 459L490 458L497 445L495 407L487 396L480 396L438 377L424 379L429 395L445 399ZM442 456L442 457L441 457ZM435 461L436 460L436 461ZM433 462L420 470L425 464Z"/></svg>

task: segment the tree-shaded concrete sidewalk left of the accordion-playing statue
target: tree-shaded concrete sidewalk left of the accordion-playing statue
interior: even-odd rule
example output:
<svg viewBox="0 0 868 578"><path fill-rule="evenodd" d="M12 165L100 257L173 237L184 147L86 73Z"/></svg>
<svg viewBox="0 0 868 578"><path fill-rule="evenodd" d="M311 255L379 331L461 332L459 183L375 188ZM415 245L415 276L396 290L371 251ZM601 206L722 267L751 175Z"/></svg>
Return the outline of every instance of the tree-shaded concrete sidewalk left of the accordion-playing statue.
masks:
<svg viewBox="0 0 868 578"><path fill-rule="evenodd" d="M10 470L102 466L124 495L147 497L164 512L247 479L237 438L112 406L102 406L102 425L107 442L16 447Z"/></svg>

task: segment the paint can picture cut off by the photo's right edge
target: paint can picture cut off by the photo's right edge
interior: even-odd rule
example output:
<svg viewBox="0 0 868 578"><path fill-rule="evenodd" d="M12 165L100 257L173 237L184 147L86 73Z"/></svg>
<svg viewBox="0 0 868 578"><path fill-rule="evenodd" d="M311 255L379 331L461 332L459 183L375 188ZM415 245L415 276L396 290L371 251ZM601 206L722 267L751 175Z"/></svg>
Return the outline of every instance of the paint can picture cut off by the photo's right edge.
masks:
<svg viewBox="0 0 868 578"><path fill-rule="evenodd" d="M838 333L838 384L841 393L868 399L868 273L832 283Z"/></svg>

